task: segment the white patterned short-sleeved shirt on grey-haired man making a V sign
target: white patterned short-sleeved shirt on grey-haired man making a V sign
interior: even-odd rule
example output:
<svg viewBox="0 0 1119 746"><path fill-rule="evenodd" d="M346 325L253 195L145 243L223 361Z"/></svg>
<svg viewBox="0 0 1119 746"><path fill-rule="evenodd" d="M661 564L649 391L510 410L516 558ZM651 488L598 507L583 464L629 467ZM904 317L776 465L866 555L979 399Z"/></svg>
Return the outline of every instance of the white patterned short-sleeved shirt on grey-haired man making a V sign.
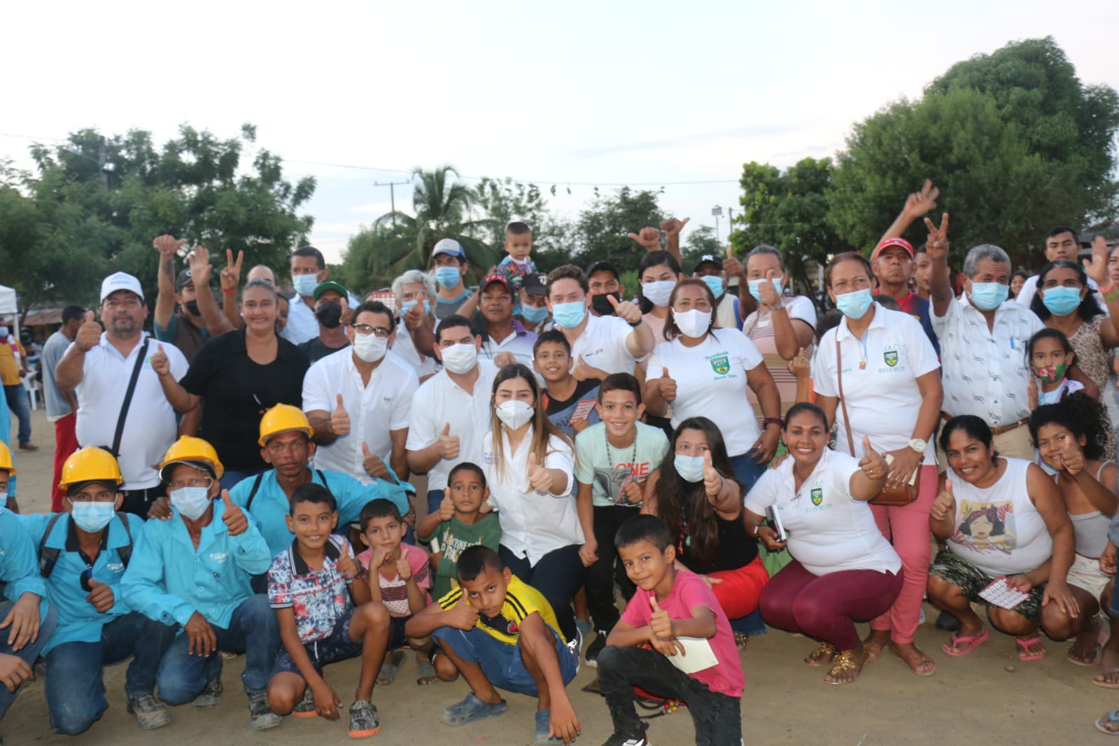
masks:
<svg viewBox="0 0 1119 746"><path fill-rule="evenodd" d="M963 300L949 301L944 315L933 311L932 329L940 340L943 366L941 409L952 416L982 417L991 427L1028 417L1032 374L1026 346L1043 327L1036 313L1016 301L995 310L994 329L987 328L987 319L966 294Z"/></svg>

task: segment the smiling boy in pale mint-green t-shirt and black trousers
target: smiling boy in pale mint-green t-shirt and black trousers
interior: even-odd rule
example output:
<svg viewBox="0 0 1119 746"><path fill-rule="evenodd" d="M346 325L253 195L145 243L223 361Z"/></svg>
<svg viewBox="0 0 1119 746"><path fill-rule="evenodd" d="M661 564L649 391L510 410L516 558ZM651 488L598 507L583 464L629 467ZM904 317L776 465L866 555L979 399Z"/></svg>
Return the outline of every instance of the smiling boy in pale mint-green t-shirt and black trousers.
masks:
<svg viewBox="0 0 1119 746"><path fill-rule="evenodd" d="M618 561L614 533L638 514L645 481L668 453L659 427L638 422L645 412L641 385L629 374L606 376L595 407L602 419L575 438L579 516L586 542L580 549L586 568L586 605L598 635L586 648L586 663L596 665L606 634L618 623L614 584L628 599L633 584Z"/></svg>

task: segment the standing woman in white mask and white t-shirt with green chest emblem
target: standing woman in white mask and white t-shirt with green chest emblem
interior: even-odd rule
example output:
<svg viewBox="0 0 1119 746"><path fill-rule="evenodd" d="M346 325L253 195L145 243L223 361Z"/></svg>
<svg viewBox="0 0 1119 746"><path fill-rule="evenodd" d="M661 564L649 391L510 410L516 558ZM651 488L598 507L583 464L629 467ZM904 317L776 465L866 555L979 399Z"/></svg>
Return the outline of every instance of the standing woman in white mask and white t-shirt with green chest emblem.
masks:
<svg viewBox="0 0 1119 746"><path fill-rule="evenodd" d="M673 427L689 417L709 417L726 441L731 468L743 490L765 471L781 432L781 399L762 355L737 329L714 329L715 296L702 280L673 290L665 336L649 357L646 408L664 415L673 405ZM759 431L746 388L761 403Z"/></svg>

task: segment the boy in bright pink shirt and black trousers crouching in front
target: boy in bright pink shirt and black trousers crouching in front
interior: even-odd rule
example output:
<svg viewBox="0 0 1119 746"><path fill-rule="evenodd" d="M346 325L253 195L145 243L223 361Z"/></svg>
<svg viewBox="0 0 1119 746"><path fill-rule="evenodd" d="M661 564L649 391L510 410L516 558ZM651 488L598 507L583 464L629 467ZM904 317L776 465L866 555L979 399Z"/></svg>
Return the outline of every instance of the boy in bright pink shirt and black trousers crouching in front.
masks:
<svg viewBox="0 0 1119 746"><path fill-rule="evenodd" d="M745 681L734 633L715 594L698 575L676 570L673 537L656 516L622 523L614 545L637 593L599 653L599 684L614 723L605 746L648 744L648 724L633 707L634 686L687 702L697 746L736 746L742 742ZM692 673L677 668L689 663L685 643L695 661L704 642L713 664Z"/></svg>

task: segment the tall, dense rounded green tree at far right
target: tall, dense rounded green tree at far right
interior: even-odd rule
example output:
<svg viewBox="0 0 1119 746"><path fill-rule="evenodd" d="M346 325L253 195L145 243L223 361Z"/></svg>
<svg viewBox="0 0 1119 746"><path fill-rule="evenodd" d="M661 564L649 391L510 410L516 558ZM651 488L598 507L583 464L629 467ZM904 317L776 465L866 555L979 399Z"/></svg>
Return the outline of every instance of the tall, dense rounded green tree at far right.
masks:
<svg viewBox="0 0 1119 746"><path fill-rule="evenodd" d="M1052 226L1115 217L1117 128L1119 96L1083 86L1052 38L1009 44L856 124L837 159L828 217L869 249L930 178L938 210L952 214L955 262L995 243L1033 265ZM922 243L924 227L906 235Z"/></svg>

